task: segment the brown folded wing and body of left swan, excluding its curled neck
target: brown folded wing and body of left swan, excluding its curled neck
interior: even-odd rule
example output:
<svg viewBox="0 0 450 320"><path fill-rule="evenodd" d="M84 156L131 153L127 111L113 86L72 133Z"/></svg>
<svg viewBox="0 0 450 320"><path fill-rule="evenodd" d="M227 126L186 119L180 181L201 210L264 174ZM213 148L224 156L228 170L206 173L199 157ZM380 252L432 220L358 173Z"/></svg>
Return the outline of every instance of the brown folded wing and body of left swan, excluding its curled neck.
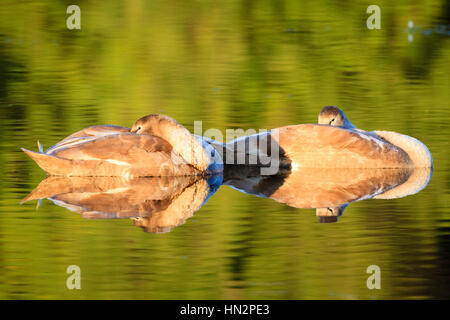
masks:
<svg viewBox="0 0 450 320"><path fill-rule="evenodd" d="M50 175L131 178L199 174L172 152L167 141L151 135L121 133L89 137L84 142L61 146L52 154L24 152Z"/></svg>

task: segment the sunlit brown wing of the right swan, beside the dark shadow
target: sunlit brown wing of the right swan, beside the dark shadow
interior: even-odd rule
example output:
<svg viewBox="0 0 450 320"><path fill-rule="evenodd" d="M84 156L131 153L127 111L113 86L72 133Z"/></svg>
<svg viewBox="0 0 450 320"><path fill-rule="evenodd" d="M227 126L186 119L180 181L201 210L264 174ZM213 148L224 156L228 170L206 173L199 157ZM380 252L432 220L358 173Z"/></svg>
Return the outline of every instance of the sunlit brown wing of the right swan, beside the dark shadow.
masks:
<svg viewBox="0 0 450 320"><path fill-rule="evenodd" d="M302 124L272 130L280 153L303 168L403 168L412 165L402 149L365 132Z"/></svg>

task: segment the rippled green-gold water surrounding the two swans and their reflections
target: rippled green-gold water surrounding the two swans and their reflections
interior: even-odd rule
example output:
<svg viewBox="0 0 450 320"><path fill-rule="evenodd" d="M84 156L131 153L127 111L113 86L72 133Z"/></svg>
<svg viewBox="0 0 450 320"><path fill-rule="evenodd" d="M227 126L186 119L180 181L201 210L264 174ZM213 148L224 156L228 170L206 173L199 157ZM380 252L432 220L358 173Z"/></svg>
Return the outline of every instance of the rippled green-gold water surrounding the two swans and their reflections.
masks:
<svg viewBox="0 0 450 320"><path fill-rule="evenodd" d="M383 3L380 30L359 1L79 5L81 30L66 29L62 3L0 5L0 298L449 298L449 38L408 36L409 21L447 26L445 1ZM270 129L315 123L325 105L420 139L428 186L319 223L315 209L224 185L166 233L19 204L45 178L20 151L37 139L155 112L190 130ZM66 288L69 265L81 290ZM366 286L369 265L380 290Z"/></svg>

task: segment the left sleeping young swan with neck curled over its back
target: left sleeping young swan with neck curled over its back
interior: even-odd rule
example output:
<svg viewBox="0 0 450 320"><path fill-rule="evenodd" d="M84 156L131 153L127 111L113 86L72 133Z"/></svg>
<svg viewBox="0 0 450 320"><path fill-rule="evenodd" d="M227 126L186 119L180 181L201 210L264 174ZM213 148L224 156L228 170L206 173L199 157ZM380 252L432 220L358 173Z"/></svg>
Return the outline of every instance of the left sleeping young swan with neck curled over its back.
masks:
<svg viewBox="0 0 450 320"><path fill-rule="evenodd" d="M22 148L47 174L63 176L189 176L222 170L209 145L164 115L140 118L131 129L93 126L44 152ZM212 150L210 150L212 149ZM216 163L217 162L217 163Z"/></svg>

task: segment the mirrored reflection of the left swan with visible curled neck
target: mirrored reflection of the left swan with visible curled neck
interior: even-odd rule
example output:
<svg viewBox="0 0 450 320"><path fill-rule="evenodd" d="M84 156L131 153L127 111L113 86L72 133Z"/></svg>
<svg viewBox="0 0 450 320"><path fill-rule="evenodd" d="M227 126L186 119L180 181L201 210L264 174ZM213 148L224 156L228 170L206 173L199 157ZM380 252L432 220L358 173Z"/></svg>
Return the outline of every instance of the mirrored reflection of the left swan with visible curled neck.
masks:
<svg viewBox="0 0 450 320"><path fill-rule="evenodd" d="M214 194L222 176L62 177L44 179L23 202L47 198L87 219L132 218L146 232L169 232ZM39 202L38 202L39 203Z"/></svg>

